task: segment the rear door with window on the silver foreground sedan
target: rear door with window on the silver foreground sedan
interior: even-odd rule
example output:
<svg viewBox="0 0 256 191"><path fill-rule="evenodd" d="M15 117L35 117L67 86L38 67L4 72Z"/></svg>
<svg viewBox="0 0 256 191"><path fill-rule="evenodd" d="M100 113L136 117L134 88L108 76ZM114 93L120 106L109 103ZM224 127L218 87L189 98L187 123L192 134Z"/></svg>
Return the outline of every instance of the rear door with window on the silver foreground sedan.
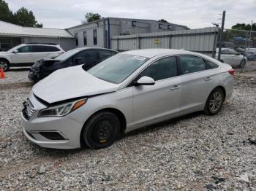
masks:
<svg viewBox="0 0 256 191"><path fill-rule="evenodd" d="M181 112L203 109L217 82L216 71L207 70L204 59L194 55L180 55L179 63L183 70Z"/></svg>

